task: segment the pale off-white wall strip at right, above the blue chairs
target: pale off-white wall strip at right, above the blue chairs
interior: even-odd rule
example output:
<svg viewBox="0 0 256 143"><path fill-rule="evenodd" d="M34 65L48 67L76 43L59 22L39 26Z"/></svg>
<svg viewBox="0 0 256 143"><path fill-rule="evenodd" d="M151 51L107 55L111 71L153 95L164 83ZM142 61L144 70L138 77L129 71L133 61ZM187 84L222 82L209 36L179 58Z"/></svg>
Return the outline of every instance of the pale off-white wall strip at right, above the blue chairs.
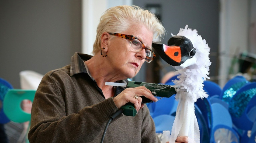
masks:
<svg viewBox="0 0 256 143"><path fill-rule="evenodd" d="M248 50L248 9L250 0L220 0L219 84L224 86L234 54Z"/></svg>

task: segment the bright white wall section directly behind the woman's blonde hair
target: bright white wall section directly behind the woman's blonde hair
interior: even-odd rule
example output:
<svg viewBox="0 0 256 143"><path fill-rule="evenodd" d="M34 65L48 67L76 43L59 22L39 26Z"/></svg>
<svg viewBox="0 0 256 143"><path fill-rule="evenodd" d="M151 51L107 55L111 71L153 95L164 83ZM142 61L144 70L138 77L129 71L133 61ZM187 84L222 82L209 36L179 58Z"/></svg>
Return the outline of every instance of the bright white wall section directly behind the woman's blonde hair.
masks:
<svg viewBox="0 0 256 143"><path fill-rule="evenodd" d="M132 0L82 0L82 53L92 54L101 14L118 5L132 5Z"/></svg>

